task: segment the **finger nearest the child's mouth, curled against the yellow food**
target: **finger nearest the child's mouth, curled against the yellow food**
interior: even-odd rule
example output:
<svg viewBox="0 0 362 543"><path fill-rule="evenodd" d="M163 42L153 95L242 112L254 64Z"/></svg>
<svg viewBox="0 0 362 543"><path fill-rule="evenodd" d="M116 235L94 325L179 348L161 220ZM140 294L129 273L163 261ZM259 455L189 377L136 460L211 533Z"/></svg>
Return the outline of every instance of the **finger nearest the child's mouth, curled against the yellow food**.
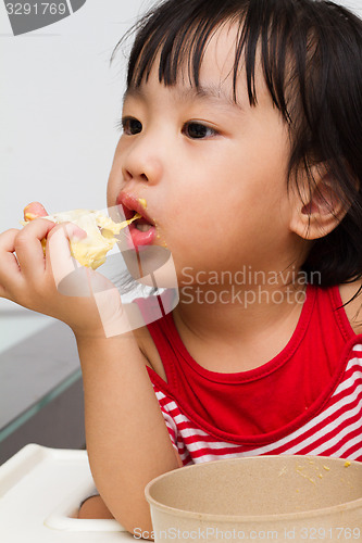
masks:
<svg viewBox="0 0 362 543"><path fill-rule="evenodd" d="M87 232L73 223L57 225L47 240L47 267L51 269L61 294L89 296L87 269L71 253L70 241L78 241Z"/></svg>

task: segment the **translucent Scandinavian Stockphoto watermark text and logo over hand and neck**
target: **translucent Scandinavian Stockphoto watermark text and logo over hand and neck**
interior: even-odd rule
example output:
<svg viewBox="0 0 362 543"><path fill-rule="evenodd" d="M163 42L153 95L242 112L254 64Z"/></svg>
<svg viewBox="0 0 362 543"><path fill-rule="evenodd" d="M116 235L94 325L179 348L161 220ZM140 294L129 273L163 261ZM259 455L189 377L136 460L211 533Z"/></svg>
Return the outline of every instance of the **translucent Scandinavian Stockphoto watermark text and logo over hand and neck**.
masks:
<svg viewBox="0 0 362 543"><path fill-rule="evenodd" d="M99 213L105 222L108 214L116 223L125 219L117 206ZM253 270L251 266L234 273L185 267L177 273L173 256L164 247L140 245L136 250L128 227L115 236L113 254L110 252L100 272L95 272L71 256L66 237L72 239L71 225L65 225L65 237L64 230L55 231L47 249L58 291L66 296L91 299L108 338L153 323L178 303L239 304L244 308L255 304L303 304L308 279L311 282L311 276L294 267L283 273ZM74 242L78 253L82 249L79 254L92 254L97 248L89 237ZM312 281L321 282L319 273L313 274Z"/></svg>

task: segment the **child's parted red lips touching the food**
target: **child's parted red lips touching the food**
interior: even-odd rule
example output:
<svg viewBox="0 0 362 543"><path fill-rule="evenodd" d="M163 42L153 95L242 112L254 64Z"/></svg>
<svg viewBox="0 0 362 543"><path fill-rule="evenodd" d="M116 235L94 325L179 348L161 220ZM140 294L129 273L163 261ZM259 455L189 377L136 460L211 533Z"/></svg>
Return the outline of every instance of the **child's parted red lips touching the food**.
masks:
<svg viewBox="0 0 362 543"><path fill-rule="evenodd" d="M129 248L137 249L139 245L150 245L155 238L155 225L154 222L148 216L145 205L142 204L142 199L138 199L126 192L121 192L116 199L116 205L122 207L121 211L127 220L133 218L135 213L139 213L141 215L141 218L138 218L128 226L130 239L127 239L127 242ZM138 229L137 225L143 226L140 226L141 229ZM149 228L147 228L148 225Z"/></svg>

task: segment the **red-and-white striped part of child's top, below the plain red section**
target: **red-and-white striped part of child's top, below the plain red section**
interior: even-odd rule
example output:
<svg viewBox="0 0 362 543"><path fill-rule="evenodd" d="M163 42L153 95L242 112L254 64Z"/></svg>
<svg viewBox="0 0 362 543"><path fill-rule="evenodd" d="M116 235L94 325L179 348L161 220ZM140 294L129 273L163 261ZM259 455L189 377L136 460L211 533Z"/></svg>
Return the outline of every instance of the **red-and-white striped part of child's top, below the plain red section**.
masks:
<svg viewBox="0 0 362 543"><path fill-rule="evenodd" d="M335 456L362 462L362 341L353 345L344 377L321 413L295 431L262 446L221 441L187 417L176 401L157 384L153 388L184 466L265 454Z"/></svg>

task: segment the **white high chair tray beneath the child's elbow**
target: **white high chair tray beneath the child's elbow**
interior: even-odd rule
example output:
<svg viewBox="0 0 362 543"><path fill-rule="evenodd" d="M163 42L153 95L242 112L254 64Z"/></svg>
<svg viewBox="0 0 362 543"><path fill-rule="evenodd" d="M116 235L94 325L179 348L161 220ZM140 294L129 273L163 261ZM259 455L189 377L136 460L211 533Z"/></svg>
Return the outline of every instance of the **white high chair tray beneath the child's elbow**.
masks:
<svg viewBox="0 0 362 543"><path fill-rule="evenodd" d="M75 518L93 490L86 451L26 445L0 466L1 543L134 540L116 520Z"/></svg>

